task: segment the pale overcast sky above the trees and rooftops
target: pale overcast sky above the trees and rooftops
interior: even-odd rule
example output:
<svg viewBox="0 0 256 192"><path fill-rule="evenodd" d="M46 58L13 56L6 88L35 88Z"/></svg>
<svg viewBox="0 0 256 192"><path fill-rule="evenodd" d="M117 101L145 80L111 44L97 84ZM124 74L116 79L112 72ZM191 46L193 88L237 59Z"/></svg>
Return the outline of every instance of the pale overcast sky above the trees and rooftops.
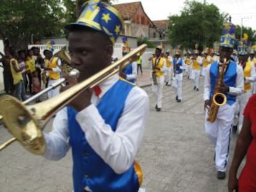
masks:
<svg viewBox="0 0 256 192"><path fill-rule="evenodd" d="M117 3L135 2L136 0L115 0ZM203 0L197 0L203 2ZM256 0L205 0L215 4L221 12L229 13L236 25L252 27L256 30ZM142 6L151 20L167 19L171 14L179 14L185 0L141 0Z"/></svg>

